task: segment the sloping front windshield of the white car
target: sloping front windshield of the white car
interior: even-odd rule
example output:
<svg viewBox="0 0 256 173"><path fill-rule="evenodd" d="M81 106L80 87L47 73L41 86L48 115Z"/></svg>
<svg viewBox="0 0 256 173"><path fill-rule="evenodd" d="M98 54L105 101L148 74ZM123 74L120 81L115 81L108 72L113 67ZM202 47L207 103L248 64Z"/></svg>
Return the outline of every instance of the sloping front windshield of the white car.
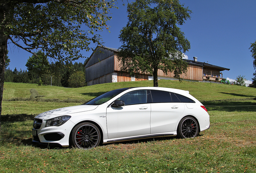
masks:
<svg viewBox="0 0 256 173"><path fill-rule="evenodd" d="M116 89L113 91L109 91L107 93L104 93L103 95L95 97L94 99L84 103L83 105L101 105L127 89L129 88Z"/></svg>

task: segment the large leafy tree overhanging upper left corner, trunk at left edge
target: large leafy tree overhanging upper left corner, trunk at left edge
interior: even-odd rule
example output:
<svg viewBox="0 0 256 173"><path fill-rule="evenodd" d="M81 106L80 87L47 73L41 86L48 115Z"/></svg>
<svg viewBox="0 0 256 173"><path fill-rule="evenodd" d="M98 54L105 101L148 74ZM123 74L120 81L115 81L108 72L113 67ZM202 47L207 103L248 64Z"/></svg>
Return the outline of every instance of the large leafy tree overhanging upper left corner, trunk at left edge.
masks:
<svg viewBox="0 0 256 173"><path fill-rule="evenodd" d="M1 0L0 1L0 115L8 40L33 55L42 50L56 60L75 60L80 50L101 45L95 31L107 28L114 0ZM81 28L83 26L83 28Z"/></svg>

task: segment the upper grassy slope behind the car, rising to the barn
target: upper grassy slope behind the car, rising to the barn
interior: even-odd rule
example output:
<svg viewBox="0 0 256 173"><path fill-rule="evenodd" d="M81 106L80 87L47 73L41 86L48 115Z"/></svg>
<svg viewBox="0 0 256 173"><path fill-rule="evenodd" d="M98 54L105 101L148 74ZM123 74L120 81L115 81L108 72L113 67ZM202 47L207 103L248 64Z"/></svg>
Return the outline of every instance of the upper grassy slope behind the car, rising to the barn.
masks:
<svg viewBox="0 0 256 173"><path fill-rule="evenodd" d="M15 97L30 97L29 90L34 88L39 95L44 95L45 99L83 99L90 100L93 97L124 87L151 87L153 81L139 81L139 82L117 82L107 84L97 84L82 88L64 88L64 87L50 87L37 86L35 84L23 83L4 83L4 99L11 99ZM190 91L190 94L198 100L219 100L219 99L244 99L248 97L256 97L256 89L248 87L240 87L237 85L202 83L202 82L179 82L177 80L159 80L159 87L175 88Z"/></svg>

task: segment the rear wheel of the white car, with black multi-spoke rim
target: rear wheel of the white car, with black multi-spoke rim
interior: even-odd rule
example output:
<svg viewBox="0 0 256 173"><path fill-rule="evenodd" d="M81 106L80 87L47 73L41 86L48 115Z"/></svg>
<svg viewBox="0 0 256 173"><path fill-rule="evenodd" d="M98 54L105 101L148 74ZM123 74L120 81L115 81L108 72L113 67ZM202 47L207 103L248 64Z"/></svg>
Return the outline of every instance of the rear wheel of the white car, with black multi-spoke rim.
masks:
<svg viewBox="0 0 256 173"><path fill-rule="evenodd" d="M198 135L199 126L193 117L184 117L180 120L177 136L180 138L194 138Z"/></svg>

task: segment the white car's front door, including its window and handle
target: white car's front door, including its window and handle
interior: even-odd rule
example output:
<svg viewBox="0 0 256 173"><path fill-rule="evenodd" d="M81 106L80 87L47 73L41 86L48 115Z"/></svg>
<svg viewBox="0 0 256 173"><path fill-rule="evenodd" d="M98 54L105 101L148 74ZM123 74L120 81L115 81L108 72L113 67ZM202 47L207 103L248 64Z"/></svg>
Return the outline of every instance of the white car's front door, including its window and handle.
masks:
<svg viewBox="0 0 256 173"><path fill-rule="evenodd" d="M147 90L132 91L120 97L125 106L107 108L108 138L150 134L151 104L147 103Z"/></svg>

